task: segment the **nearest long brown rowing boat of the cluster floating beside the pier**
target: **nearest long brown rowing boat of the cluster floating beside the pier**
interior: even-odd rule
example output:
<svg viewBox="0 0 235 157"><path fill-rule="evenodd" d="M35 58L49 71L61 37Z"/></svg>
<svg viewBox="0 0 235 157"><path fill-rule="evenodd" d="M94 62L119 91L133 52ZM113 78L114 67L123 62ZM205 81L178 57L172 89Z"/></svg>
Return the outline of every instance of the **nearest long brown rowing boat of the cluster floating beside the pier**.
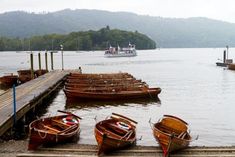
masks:
<svg viewBox="0 0 235 157"><path fill-rule="evenodd" d="M135 98L148 98L154 99L158 97L161 88L148 88L144 90L77 90L77 89L64 89L64 92L69 99L88 99L88 100L120 100L120 99L135 99Z"/></svg>

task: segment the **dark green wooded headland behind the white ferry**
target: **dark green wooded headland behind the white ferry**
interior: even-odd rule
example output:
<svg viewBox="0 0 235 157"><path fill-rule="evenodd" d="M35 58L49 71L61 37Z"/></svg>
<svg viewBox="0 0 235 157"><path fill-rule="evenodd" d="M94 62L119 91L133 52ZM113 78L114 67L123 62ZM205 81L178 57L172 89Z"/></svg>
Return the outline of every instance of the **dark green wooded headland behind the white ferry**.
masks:
<svg viewBox="0 0 235 157"><path fill-rule="evenodd" d="M148 36L137 31L129 32L110 29L109 26L98 31L72 32L67 35L47 34L30 38L0 37L0 51L40 51L60 50L104 50L110 45L126 47L135 44L137 49L155 49L156 43Z"/></svg>

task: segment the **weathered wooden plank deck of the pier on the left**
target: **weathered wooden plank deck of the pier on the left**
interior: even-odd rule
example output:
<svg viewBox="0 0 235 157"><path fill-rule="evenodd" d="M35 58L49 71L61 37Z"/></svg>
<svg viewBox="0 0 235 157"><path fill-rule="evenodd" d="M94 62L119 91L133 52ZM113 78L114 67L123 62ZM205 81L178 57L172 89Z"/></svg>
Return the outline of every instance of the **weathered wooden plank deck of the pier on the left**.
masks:
<svg viewBox="0 0 235 157"><path fill-rule="evenodd" d="M17 120L48 96L70 71L52 71L16 87ZM0 95L0 136L14 124L12 89Z"/></svg>

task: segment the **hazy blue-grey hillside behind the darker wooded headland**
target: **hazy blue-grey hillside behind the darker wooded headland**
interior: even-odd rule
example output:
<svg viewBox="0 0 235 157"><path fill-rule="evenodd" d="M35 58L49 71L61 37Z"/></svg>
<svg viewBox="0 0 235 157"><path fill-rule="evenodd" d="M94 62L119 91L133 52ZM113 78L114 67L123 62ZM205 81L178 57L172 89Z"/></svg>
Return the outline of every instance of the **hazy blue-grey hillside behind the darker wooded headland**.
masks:
<svg viewBox="0 0 235 157"><path fill-rule="evenodd" d="M30 37L51 33L99 30L109 25L148 35L157 47L235 46L235 24L207 18L174 19L127 12L62 10L47 14L0 14L0 36Z"/></svg>

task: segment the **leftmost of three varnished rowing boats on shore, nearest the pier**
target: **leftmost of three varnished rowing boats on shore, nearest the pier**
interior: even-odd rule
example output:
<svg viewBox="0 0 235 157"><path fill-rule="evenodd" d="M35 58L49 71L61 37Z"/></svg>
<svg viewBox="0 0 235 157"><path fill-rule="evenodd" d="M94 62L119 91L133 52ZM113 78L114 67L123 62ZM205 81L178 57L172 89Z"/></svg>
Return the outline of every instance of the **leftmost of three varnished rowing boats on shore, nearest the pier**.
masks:
<svg viewBox="0 0 235 157"><path fill-rule="evenodd" d="M56 144L78 138L80 117L65 112L66 115L38 119L29 125L29 150L35 150L42 144Z"/></svg>

